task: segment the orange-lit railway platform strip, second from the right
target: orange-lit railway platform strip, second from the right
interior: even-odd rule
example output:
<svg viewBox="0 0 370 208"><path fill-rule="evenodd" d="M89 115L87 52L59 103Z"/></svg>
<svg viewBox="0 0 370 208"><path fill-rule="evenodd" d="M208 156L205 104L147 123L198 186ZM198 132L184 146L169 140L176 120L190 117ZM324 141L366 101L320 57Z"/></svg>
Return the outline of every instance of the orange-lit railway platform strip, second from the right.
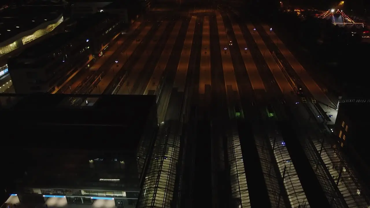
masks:
<svg viewBox="0 0 370 208"><path fill-rule="evenodd" d="M294 94L292 86L289 84L288 80L286 79L285 75L281 71L280 67L277 65L275 59L272 57L272 54L266 47L265 43L263 42L261 36L259 36L257 31L254 31L255 28L252 24L247 25L248 30L252 34L253 39L255 40L259 50L261 51L263 57L266 60L266 63L268 64L273 76L275 77L275 80L277 84L279 85L280 90L285 95L291 95ZM273 80L271 80L273 81Z"/></svg>

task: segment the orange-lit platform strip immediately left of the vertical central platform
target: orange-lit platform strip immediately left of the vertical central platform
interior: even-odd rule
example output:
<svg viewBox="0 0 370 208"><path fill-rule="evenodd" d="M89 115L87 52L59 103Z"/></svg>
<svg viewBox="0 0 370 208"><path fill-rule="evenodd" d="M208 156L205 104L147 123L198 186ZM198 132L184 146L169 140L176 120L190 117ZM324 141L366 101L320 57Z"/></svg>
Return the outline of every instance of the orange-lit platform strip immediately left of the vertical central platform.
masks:
<svg viewBox="0 0 370 208"><path fill-rule="evenodd" d="M195 30L196 16L192 16L188 31L186 32L184 46L182 47L181 57L177 66L174 88L178 88L178 91L184 92L186 73L189 67L189 59L191 54L191 46L193 44L194 30Z"/></svg>

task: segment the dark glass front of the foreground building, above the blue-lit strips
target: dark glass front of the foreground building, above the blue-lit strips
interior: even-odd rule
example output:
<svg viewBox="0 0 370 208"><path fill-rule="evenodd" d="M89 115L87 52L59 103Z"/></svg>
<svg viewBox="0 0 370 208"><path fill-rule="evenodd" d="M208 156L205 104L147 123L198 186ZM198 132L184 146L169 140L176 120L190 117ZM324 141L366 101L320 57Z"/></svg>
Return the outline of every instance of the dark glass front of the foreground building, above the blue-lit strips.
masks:
<svg viewBox="0 0 370 208"><path fill-rule="evenodd" d="M73 144L70 145L73 146ZM136 157L135 155L131 158L127 157L125 153L125 151L110 149L23 150L23 155L28 155L29 158L23 162L27 174L21 177L18 185L24 188L92 189L94 187L100 190L138 191ZM107 178L118 180L100 180Z"/></svg>

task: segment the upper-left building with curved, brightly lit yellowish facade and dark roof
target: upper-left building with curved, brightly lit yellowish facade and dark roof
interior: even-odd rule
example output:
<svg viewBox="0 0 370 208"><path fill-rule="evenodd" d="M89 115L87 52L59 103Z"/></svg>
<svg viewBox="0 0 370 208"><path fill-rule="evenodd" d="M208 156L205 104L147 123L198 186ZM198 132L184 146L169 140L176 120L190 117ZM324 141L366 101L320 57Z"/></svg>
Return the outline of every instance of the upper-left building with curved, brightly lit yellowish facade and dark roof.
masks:
<svg viewBox="0 0 370 208"><path fill-rule="evenodd" d="M0 7L0 77L7 75L9 57L17 56L63 22L64 7L63 1L30 1Z"/></svg>

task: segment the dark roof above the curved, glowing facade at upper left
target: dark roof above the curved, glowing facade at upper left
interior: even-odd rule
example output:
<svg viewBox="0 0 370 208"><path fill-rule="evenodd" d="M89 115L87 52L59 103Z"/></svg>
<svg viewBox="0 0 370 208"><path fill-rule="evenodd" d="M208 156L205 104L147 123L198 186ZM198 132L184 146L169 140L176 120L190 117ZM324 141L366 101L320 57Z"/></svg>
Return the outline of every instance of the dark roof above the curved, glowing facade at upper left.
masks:
<svg viewBox="0 0 370 208"><path fill-rule="evenodd" d="M36 1L21 6L11 5L0 11L0 43L46 21L57 19L64 7L47 1Z"/></svg>

